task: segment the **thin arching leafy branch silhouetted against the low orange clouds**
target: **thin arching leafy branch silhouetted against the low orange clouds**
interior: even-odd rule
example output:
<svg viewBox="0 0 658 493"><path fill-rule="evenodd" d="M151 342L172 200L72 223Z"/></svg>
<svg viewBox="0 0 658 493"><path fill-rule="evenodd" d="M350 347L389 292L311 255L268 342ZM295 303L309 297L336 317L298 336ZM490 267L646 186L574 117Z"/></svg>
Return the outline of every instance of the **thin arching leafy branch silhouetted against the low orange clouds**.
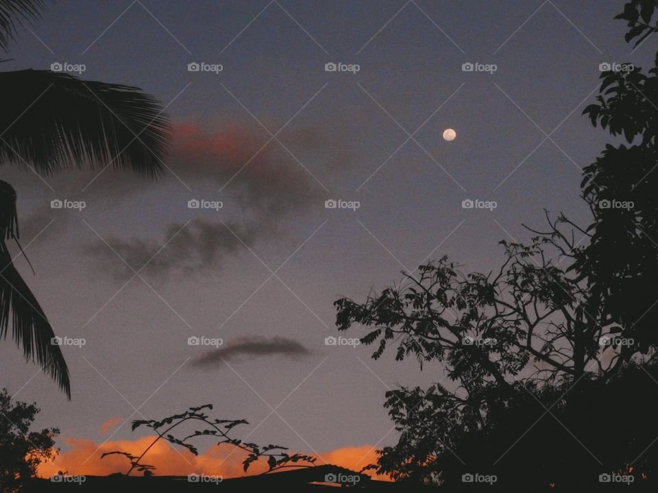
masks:
<svg viewBox="0 0 658 493"><path fill-rule="evenodd" d="M230 444L236 448L248 453L247 457L243 461L243 470L247 472L249 466L254 462L258 462L261 458L267 458L267 471L272 472L274 470L280 470L283 468L305 468L315 466L315 457L310 455L303 454L289 454L285 451L288 449L280 445L265 445L260 446L251 442L243 442L242 440L231 438L228 433L238 425L248 425L249 423L245 420L226 420L226 419L212 419L204 412L204 409L212 409L212 404L205 404L199 407L190 407L187 411L184 411L180 414L174 414L168 418L163 418L162 420L134 420L132 422L132 430L134 431L138 427L146 426L153 429L158 433L158 437L145 448L145 450L139 456L132 455L124 451L112 451L106 452L101 455L101 459L108 455L123 455L130 460L130 469L127 470L125 475L130 475L133 470L138 472L143 472L145 476L153 474L153 470L156 466L149 464L142 464L141 460L146 455L146 453L154 446L159 440L167 440L167 442L173 445L180 445L186 448L188 451L194 455L198 455L199 451L196 446L190 443L190 440L198 437L215 437L220 438L221 440L217 442L217 445L221 444ZM200 430L195 430L191 435L187 435L184 438L176 438L174 435L171 435L169 431L182 425L186 421L199 421L204 424L204 428ZM164 429L162 429L164 428ZM298 464L298 463L308 463L308 464Z"/></svg>

